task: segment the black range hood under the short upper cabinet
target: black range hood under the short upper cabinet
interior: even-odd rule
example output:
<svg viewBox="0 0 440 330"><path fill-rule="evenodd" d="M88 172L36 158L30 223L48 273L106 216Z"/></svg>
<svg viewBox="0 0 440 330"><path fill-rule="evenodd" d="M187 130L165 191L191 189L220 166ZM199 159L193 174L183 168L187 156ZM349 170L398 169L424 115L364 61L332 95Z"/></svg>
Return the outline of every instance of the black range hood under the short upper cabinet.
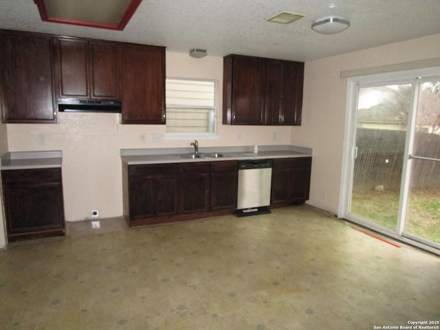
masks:
<svg viewBox="0 0 440 330"><path fill-rule="evenodd" d="M80 100L76 98L62 99L58 100L58 111L120 113L121 102L114 100Z"/></svg>

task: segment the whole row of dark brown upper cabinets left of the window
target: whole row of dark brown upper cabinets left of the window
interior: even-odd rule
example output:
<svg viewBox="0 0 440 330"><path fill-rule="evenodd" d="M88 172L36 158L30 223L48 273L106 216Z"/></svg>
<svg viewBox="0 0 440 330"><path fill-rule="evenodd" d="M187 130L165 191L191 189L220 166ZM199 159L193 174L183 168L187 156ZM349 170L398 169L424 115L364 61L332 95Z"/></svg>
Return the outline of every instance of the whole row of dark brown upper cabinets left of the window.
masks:
<svg viewBox="0 0 440 330"><path fill-rule="evenodd" d="M58 122L58 99L122 100L122 124L165 124L165 47L0 30L5 123Z"/></svg>

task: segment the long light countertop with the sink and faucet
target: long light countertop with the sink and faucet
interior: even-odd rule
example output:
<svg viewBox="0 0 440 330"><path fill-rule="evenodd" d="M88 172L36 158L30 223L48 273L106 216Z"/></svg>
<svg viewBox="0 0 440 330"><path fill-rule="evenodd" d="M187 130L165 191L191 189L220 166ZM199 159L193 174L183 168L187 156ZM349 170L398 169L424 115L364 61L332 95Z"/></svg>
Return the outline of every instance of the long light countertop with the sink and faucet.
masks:
<svg viewBox="0 0 440 330"><path fill-rule="evenodd" d="M121 149L121 159L128 165L164 164L184 162L217 162L221 160L265 159L311 157L311 148L300 146L259 146L254 153L254 146L210 147L199 148L201 158L182 157L192 153L194 148L157 148L157 149ZM209 154L219 153L222 157L210 157Z"/></svg>

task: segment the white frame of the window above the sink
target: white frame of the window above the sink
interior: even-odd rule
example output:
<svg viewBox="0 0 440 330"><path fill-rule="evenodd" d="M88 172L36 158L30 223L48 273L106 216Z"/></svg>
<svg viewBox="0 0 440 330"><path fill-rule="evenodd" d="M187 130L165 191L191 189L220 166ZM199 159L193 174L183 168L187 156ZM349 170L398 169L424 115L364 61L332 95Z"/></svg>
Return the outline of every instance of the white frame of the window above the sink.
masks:
<svg viewBox="0 0 440 330"><path fill-rule="evenodd" d="M208 79L208 78L188 78L188 77L174 77L174 76L166 76L166 80L173 79L173 80L194 80L194 81L206 81L206 82L212 82L214 83L214 106L212 107L212 111L214 112L212 114L212 123L214 125L213 132L212 133L167 133L165 131L164 138L165 140L217 140L219 139L219 133L218 133L218 109L219 104L218 102L218 95L219 95L219 82L217 79ZM166 91L165 91L166 92ZM178 109L185 109L190 107L185 106L179 106L176 104L170 104L170 108L178 108ZM199 107L199 106L192 106L193 109L210 109L207 107ZM168 109L168 104L165 104L165 111ZM166 126L166 124L165 124Z"/></svg>

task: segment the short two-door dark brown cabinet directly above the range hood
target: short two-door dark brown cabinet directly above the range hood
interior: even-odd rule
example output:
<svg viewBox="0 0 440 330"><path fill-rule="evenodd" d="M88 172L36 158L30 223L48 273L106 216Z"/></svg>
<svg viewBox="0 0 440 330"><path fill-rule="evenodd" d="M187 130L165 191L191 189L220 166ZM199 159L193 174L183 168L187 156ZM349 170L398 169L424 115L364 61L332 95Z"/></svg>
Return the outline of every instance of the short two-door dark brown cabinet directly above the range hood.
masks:
<svg viewBox="0 0 440 330"><path fill-rule="evenodd" d="M59 98L120 99L118 43L60 37L56 59Z"/></svg>

